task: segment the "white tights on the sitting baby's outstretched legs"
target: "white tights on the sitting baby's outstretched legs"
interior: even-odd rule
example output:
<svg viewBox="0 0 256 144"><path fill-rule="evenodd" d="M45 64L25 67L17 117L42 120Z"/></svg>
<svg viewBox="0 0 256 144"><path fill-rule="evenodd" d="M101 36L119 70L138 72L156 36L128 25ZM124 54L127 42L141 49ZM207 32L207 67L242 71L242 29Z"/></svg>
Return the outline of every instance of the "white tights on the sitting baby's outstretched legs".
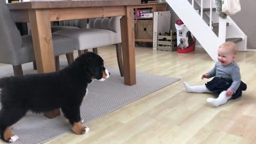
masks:
<svg viewBox="0 0 256 144"><path fill-rule="evenodd" d="M188 83L184 82L184 86L187 90L187 92L195 92L195 93L212 93L209 91L205 85L196 85L196 86L190 86ZM226 91L222 91L219 94L219 97L217 99L213 98L207 98L206 101L210 103L214 107L218 107L220 105L225 104L231 97L228 97L226 95Z"/></svg>

